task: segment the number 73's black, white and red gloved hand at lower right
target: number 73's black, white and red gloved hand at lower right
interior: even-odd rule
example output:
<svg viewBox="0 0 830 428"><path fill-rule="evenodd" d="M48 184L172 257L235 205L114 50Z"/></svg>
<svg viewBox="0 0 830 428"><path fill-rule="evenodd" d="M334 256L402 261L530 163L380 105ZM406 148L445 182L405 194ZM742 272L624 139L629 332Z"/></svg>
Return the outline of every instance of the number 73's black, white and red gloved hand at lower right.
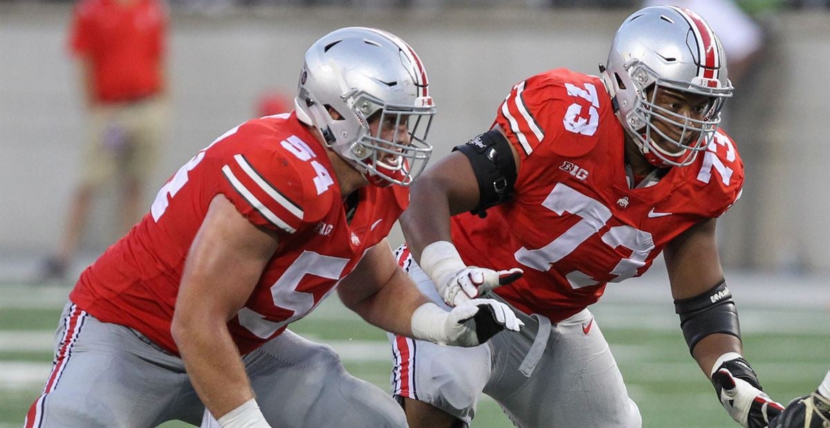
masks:
<svg viewBox="0 0 830 428"><path fill-rule="evenodd" d="M729 357L727 357L729 356ZM720 404L729 412L732 419L748 428L764 428L769 421L784 410L762 390L758 377L749 367L749 362L738 353L729 353L720 357L725 361L712 372L712 383L718 394Z"/></svg>

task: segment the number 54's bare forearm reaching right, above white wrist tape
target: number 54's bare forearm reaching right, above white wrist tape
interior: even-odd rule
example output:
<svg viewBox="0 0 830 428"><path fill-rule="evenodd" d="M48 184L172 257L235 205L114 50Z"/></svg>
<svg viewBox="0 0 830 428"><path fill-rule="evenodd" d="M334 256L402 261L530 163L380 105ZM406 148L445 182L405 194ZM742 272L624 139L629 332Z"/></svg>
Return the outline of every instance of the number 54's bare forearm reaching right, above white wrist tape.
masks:
<svg viewBox="0 0 830 428"><path fill-rule="evenodd" d="M412 316L415 309L429 302L403 270L396 270L388 283L374 294L358 302L344 304L378 328L390 333L412 336Z"/></svg>

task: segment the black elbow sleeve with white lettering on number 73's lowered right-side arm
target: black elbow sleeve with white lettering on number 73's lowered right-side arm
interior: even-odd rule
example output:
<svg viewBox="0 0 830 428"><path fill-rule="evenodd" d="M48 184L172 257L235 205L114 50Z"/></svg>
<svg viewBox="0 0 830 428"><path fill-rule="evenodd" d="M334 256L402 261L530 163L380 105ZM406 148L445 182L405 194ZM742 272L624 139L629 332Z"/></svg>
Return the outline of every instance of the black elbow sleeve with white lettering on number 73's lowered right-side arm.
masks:
<svg viewBox="0 0 830 428"><path fill-rule="evenodd" d="M726 280L720 280L706 293L675 300L675 312L680 315L680 327L690 353L702 338L712 333L731 334L740 339L738 311L726 288Z"/></svg>

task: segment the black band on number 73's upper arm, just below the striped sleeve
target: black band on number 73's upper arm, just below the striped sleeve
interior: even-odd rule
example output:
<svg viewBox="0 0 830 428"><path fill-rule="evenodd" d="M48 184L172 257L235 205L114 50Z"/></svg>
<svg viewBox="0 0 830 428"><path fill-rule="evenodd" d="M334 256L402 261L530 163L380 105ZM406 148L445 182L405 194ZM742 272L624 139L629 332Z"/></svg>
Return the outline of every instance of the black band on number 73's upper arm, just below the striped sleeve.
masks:
<svg viewBox="0 0 830 428"><path fill-rule="evenodd" d="M486 216L487 208L505 202L513 193L516 166L510 143L498 130L491 129L452 149L456 150L470 160L478 181L478 206L471 212Z"/></svg>

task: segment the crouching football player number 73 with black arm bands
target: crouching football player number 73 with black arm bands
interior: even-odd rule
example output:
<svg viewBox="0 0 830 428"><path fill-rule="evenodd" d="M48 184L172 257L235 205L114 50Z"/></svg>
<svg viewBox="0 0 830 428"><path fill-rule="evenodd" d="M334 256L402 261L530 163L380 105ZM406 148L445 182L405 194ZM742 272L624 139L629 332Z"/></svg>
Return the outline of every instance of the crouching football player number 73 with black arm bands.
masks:
<svg viewBox="0 0 830 428"><path fill-rule="evenodd" d="M694 12L648 7L600 71L520 81L489 131L413 186L405 270L447 307L504 301L525 328L464 349L392 337L410 426L469 424L480 392L517 426L641 426L587 307L661 252L690 352L730 416L760 427L779 413L741 355L715 242L744 180L717 127L733 91L720 41Z"/></svg>

